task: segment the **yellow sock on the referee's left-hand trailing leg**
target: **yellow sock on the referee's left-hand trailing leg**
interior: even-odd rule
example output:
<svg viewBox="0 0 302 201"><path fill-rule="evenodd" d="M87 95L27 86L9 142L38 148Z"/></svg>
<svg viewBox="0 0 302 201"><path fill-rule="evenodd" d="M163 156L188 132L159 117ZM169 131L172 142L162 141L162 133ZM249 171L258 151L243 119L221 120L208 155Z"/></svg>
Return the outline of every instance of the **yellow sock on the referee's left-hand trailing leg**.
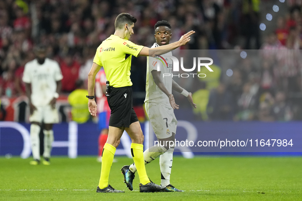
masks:
<svg viewBox="0 0 302 201"><path fill-rule="evenodd" d="M100 182L99 182L100 189L106 188L108 186L109 173L110 173L115 150L117 150L117 148L115 148L111 144L106 143L104 145L103 153L102 153L101 178L100 178ZM143 158L143 160L144 160L144 158ZM143 162L143 165L144 165L144 162ZM144 167L145 167L145 165L144 165ZM146 174L146 170L145 170L145 174Z"/></svg>

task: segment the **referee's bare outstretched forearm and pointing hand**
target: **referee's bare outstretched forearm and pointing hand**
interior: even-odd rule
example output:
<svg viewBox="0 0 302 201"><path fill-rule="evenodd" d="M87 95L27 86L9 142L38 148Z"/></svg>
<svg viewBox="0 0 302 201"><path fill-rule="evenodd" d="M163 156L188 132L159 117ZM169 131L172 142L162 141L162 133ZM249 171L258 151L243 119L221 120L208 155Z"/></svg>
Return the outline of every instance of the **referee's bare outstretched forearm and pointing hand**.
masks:
<svg viewBox="0 0 302 201"><path fill-rule="evenodd" d="M149 50L151 48L143 47L142 51L140 52L140 54L138 54L138 56L155 57L156 55L162 55L162 54L168 53L168 52L172 51L173 49L176 49L177 47L187 44L191 40L190 36L194 33L195 33L195 31L190 31L187 34L184 34L183 36L181 36L181 38L177 42L173 42L168 45L161 45L159 47L152 48L151 53L149 53L150 52Z"/></svg>

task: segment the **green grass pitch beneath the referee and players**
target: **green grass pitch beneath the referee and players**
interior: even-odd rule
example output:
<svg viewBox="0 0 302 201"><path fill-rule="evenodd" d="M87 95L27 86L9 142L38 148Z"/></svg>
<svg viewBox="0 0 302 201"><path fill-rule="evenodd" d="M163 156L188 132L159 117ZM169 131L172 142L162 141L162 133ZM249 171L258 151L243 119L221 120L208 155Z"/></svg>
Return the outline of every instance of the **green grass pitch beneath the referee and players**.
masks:
<svg viewBox="0 0 302 201"><path fill-rule="evenodd" d="M126 193L96 193L96 157L53 157L50 166L0 158L0 200L302 200L301 157L174 157L171 183L185 190L178 193L140 193L137 173L129 191L120 169L132 159L116 159L109 184ZM160 184L158 161L146 167Z"/></svg>

